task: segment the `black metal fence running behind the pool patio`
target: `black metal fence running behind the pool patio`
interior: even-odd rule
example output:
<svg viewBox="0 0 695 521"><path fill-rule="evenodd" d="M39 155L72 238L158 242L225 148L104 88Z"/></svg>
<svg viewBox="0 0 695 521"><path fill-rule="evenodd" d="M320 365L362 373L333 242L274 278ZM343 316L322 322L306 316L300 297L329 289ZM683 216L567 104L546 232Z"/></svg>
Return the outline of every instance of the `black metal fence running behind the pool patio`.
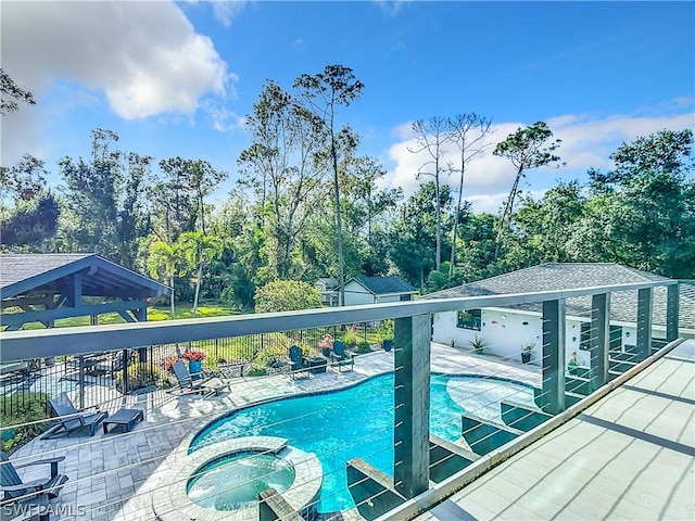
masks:
<svg viewBox="0 0 695 521"><path fill-rule="evenodd" d="M48 399L61 393L67 393L76 407L85 408L123 394L174 385L172 365L186 359L191 351L204 354L202 368L208 373L252 377L281 371L291 345L299 345L307 357L318 355L327 339L344 340L362 352L378 345L374 328L359 323L22 360L3 367L1 423L16 424L25 416L36 420L37 414L50 416Z"/></svg>

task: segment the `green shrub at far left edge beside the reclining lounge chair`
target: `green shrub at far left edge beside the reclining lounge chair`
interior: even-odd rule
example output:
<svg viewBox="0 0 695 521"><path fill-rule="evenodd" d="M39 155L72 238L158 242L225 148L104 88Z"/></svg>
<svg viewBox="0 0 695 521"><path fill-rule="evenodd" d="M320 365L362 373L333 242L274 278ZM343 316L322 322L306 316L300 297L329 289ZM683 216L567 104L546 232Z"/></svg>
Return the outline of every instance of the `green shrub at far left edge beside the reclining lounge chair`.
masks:
<svg viewBox="0 0 695 521"><path fill-rule="evenodd" d="M23 396L20 396L20 394ZM46 393L14 393L10 396L2 396L0 399L2 401L0 410L7 411L1 417L2 427L21 425L22 423L43 420L49 417L48 395ZM46 429L48 429L48 422L41 421L17 427L14 433L3 431L2 450L12 453L33 437L38 436ZM4 439L5 433L7 440Z"/></svg>

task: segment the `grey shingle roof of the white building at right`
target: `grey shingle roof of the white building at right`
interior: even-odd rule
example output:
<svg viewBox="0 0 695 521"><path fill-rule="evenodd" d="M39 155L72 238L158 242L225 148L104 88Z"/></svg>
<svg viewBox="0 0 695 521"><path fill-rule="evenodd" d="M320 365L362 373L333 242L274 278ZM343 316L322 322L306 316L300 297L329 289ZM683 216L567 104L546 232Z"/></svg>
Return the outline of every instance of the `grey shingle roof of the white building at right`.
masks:
<svg viewBox="0 0 695 521"><path fill-rule="evenodd" d="M535 291L569 290L669 280L666 277L628 268L612 263L548 263L498 275L489 279L450 288L431 293L424 298L452 298L462 296L481 296L508 293L530 293ZM682 287L680 323L682 328L695 329L695 297L687 285ZM666 295L664 287L655 288L653 303L653 323L665 325ZM508 306L510 308L541 312L541 303ZM591 316L591 296L568 298L567 314L577 317ZM637 316L637 292L619 291L610 295L610 316L612 320L635 322Z"/></svg>

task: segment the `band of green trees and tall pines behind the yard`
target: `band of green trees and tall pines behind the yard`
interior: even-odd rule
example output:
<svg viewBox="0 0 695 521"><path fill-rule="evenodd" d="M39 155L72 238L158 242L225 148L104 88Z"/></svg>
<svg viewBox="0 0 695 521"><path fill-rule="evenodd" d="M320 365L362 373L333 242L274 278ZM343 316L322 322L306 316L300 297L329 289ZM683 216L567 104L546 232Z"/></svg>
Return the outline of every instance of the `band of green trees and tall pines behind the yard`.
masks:
<svg viewBox="0 0 695 521"><path fill-rule="evenodd" d="M387 169L361 152L363 137L334 119L364 89L352 71L328 66L292 89L263 87L238 181L218 204L225 171L122 150L109 129L92 131L87 157L3 165L0 249L96 251L174 287L172 316L175 301L206 298L247 312L317 307L319 277L400 275L427 293L540 263L611 262L695 278L691 129L622 143L611 169L534 198L521 190L526 173L559 165L545 123L490 143L490 119L476 113L424 119L419 145L433 163L419 174L439 179L404 201L400 188L383 188ZM498 213L473 214L464 173L492 144L515 182ZM444 164L438 147L457 160ZM55 174L62 186L48 189Z"/></svg>

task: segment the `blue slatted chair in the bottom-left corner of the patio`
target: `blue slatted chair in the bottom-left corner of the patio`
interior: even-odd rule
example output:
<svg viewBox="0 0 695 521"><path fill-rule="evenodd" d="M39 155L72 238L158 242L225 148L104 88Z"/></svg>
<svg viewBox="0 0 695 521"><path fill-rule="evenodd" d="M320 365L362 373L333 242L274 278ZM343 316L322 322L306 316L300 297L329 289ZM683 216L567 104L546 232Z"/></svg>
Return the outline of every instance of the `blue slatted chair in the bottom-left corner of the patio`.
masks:
<svg viewBox="0 0 695 521"><path fill-rule="evenodd" d="M61 493L63 485L67 481L65 474L58 473L58 462L65 459L65 456L58 458L40 459L28 463L13 465L5 453L0 452L0 491L2 492L3 509L12 508L12 499L37 498L46 495L48 499L54 499ZM24 483L16 469L30 467L34 465L48 463L51 466L51 475L48 479L28 481ZM8 501L8 503L4 503Z"/></svg>

